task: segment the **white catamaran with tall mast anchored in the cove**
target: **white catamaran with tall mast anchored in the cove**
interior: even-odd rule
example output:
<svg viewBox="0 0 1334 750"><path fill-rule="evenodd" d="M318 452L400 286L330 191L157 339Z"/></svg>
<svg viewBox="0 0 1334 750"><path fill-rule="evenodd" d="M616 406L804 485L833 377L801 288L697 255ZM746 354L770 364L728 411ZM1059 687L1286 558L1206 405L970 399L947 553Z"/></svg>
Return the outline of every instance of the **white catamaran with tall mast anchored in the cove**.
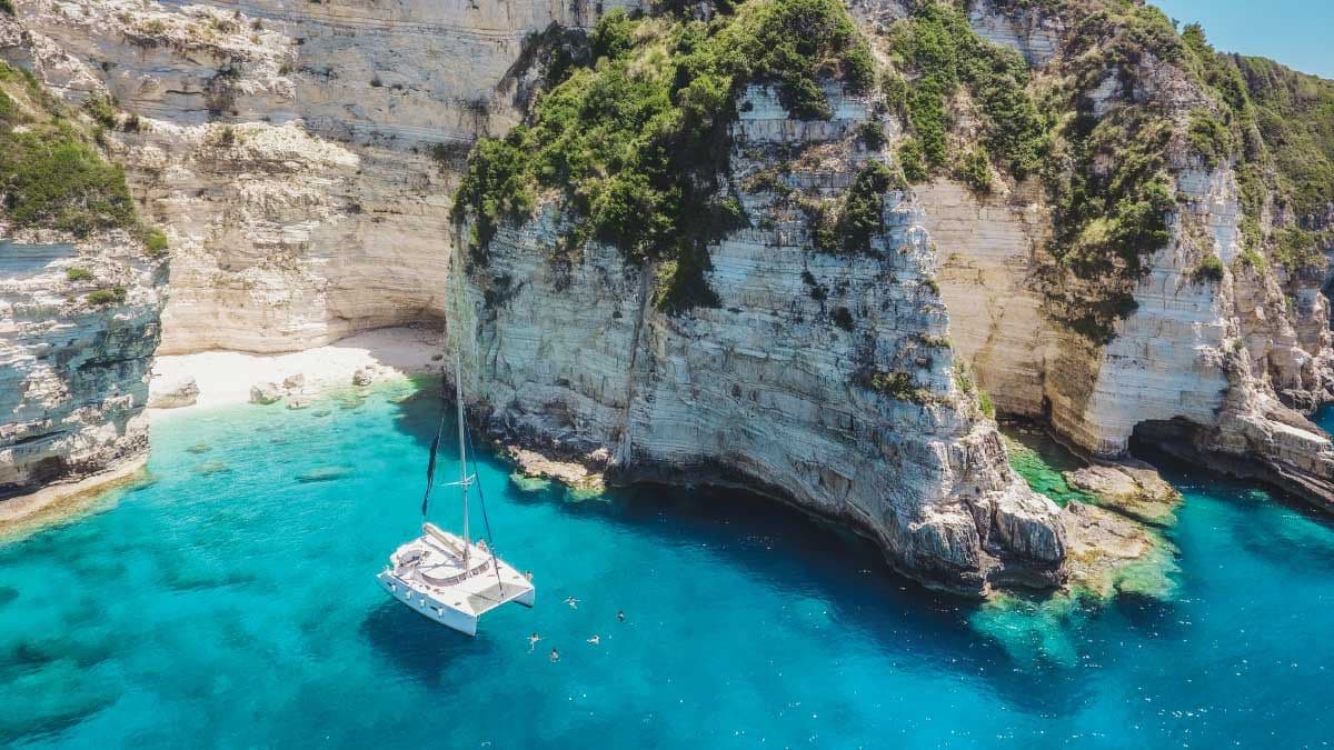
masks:
<svg viewBox="0 0 1334 750"><path fill-rule="evenodd" d="M431 499L431 486L435 479L435 455L440 446L440 432L444 428L444 414L440 427L431 442L431 459L427 464L426 495L422 498L422 536L400 546L390 555L390 565L376 575L395 599L440 625L459 633L476 635L482 615L510 602L531 607L536 599L536 589L531 577L520 574L496 556L483 539L472 540L468 535L468 491L478 480L474 470L468 472L467 431L463 414L463 366L458 352L454 355L454 392L459 416L459 480L450 486L459 488L463 499L463 536L444 531L427 520L427 506ZM478 499L482 500L483 520L486 519L486 498L478 484ZM490 536L490 522L487 522Z"/></svg>

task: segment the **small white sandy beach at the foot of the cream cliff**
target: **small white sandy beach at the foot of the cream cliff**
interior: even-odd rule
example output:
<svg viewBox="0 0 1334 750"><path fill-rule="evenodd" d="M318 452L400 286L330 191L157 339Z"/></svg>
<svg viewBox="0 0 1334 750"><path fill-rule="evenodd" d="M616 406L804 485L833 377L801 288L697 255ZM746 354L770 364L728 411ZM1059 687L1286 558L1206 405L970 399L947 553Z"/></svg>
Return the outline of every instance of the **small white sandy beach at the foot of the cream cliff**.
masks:
<svg viewBox="0 0 1334 750"><path fill-rule="evenodd" d="M192 406L152 408L151 415L177 414L187 410L247 403L251 386L300 376L300 386L283 388L284 395L303 399L336 386L352 384L362 371L372 382L406 378L439 371L443 335L428 328L378 328L364 331L332 344L289 354L247 354L239 351L203 351L159 356L153 362L155 392L169 388L183 378L193 378L199 395Z"/></svg>

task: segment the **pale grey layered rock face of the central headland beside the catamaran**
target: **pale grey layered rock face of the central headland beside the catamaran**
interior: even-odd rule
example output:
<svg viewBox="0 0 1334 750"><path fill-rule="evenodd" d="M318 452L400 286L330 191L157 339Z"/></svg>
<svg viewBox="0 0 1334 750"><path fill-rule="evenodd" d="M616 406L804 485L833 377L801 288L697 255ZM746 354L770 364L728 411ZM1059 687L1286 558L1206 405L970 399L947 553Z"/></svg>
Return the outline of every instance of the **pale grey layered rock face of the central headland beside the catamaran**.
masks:
<svg viewBox="0 0 1334 750"><path fill-rule="evenodd" d="M791 120L767 88L738 107L730 177L752 228L711 250L718 308L660 312L654 270L600 244L552 263L555 207L502 228L451 310L475 348L466 392L510 438L606 451L610 479L760 487L843 519L932 585L1058 582L1059 511L1009 470L942 343L920 206L887 196L872 254L824 255L800 210L748 187L794 148L788 185L832 196L883 159L854 135L870 103L828 93L830 121ZM911 372L915 400L867 386L875 372Z"/></svg>

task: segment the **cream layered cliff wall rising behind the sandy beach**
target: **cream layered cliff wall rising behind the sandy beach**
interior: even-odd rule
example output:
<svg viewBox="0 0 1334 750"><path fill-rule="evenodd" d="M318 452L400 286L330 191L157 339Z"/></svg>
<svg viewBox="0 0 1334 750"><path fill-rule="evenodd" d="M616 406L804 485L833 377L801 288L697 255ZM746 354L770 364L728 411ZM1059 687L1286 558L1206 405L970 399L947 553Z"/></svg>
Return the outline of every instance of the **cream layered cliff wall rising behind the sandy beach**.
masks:
<svg viewBox="0 0 1334 750"><path fill-rule="evenodd" d="M0 56L137 116L111 136L169 227L163 354L296 351L439 316L472 140L515 121L530 35L596 20L579 3L15 5Z"/></svg>

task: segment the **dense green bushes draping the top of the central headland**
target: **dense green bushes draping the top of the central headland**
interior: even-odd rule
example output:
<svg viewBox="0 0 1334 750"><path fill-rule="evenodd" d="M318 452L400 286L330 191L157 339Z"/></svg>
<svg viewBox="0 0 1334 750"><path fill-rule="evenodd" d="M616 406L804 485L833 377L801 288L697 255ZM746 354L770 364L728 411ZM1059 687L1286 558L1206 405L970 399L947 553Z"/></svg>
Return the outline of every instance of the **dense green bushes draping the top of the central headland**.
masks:
<svg viewBox="0 0 1334 750"><path fill-rule="evenodd" d="M738 96L770 83L792 116L828 117L820 81L870 89L870 49L838 0L756 0L711 21L614 9L588 43L591 65L571 65L524 124L474 149L452 214L472 222L470 256L484 260L503 222L527 219L540 194L559 192L567 230L558 256L604 242L635 263L662 264L662 310L715 304L707 244L744 223L719 180Z"/></svg>

